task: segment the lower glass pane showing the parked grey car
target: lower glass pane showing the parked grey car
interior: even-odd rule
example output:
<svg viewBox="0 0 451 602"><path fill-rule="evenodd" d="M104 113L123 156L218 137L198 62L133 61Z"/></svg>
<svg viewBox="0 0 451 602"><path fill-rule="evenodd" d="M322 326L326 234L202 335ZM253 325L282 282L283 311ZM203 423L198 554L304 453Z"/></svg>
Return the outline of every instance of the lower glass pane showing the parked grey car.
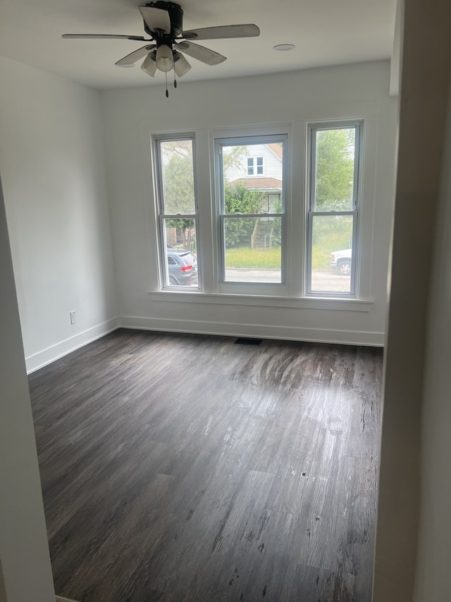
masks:
<svg viewBox="0 0 451 602"><path fill-rule="evenodd" d="M197 287L196 227L190 219L163 219L164 285Z"/></svg>

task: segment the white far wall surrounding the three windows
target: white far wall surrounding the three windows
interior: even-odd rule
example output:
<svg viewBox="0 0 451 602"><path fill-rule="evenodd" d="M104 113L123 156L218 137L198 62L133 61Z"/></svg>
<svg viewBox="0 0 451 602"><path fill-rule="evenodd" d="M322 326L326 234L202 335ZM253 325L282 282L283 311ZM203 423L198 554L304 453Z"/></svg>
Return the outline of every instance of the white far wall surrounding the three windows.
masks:
<svg viewBox="0 0 451 602"><path fill-rule="evenodd" d="M182 81L168 99L159 86L101 92L121 324L383 344L397 119L397 102L388 97L389 80L389 64L381 62L235 80ZM158 289L151 133L195 131L199 149L211 143L214 128L290 124L296 157L289 183L294 191L292 211L302 220L305 121L345 118L365 119L361 294L371 303L271 300L259 305L236 296L224 300L211 294L204 299L187 299L185 294L183 301L171 301L182 298L149 293ZM200 169L208 169L209 150L202 150L197 159ZM207 172L199 191L204 207L210 203L209 186ZM208 210L204 216L210 219ZM288 269L295 273L302 265L303 248L297 219L292 221L292 244L299 260ZM203 243L204 257L213 265L215 248ZM212 279L205 284L216 293ZM295 293L288 291L289 296Z"/></svg>

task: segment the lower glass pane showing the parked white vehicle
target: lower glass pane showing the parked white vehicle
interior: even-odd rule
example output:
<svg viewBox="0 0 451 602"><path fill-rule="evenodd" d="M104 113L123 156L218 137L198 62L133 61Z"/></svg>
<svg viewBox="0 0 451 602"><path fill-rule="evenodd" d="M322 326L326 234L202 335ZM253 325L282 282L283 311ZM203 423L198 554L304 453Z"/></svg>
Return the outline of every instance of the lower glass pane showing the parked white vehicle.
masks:
<svg viewBox="0 0 451 602"><path fill-rule="evenodd" d="M314 215L311 292L351 292L352 224L352 215Z"/></svg>

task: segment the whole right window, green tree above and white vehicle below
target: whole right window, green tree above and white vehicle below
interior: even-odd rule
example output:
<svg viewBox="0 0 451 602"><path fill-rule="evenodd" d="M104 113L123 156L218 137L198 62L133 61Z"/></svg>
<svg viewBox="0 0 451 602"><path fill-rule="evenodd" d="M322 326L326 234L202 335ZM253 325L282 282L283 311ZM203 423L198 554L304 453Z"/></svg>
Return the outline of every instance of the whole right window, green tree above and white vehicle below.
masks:
<svg viewBox="0 0 451 602"><path fill-rule="evenodd" d="M361 127L309 128L307 294L355 293Z"/></svg>

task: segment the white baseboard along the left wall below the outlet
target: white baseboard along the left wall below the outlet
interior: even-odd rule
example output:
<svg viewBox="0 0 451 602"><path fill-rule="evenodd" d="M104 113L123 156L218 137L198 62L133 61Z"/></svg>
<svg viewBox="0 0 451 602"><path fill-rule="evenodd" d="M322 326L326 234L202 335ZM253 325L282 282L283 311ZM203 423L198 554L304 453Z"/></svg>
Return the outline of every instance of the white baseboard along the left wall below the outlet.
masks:
<svg viewBox="0 0 451 602"><path fill-rule="evenodd" d="M37 354L25 357L27 374L31 374L32 372L39 370L39 368L47 366L49 363L75 351L75 349L80 349L80 347L84 347L88 343L95 341L100 337L104 337L117 328L118 318L111 318L111 320L106 320L106 322L102 322L83 332L79 332L69 339L51 345L51 347L47 347L47 349L42 349L42 351L39 351Z"/></svg>

